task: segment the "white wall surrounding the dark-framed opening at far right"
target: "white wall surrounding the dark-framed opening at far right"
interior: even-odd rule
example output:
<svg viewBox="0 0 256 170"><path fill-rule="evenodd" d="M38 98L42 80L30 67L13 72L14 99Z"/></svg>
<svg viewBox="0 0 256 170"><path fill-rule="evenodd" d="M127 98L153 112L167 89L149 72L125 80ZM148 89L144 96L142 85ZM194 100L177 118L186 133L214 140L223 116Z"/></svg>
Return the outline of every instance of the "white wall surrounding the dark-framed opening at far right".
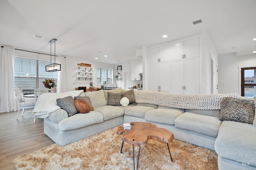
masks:
<svg viewBox="0 0 256 170"><path fill-rule="evenodd" d="M256 54L236 56L236 53L218 55L219 93L241 92L241 72L238 67L256 66Z"/></svg>

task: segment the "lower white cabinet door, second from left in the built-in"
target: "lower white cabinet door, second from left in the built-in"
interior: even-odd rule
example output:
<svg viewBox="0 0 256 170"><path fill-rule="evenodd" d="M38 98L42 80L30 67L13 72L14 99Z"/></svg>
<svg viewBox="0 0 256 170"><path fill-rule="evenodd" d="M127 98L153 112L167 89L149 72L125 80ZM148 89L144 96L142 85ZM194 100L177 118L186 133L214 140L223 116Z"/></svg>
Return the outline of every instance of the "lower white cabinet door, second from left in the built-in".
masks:
<svg viewBox="0 0 256 170"><path fill-rule="evenodd" d="M159 63L159 86L160 91L171 92L171 62L163 61Z"/></svg>

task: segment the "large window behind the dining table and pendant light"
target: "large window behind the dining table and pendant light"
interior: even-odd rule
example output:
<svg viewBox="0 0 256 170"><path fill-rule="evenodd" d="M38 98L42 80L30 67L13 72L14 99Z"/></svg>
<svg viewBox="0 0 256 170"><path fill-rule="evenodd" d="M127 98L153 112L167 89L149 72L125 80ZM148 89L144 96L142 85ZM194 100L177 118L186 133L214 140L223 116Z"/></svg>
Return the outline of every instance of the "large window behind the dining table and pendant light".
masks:
<svg viewBox="0 0 256 170"><path fill-rule="evenodd" d="M40 61L15 57L14 85L21 87L24 94L33 94L34 87L44 87L42 81L54 79L57 84L57 72L46 72L45 66L50 61Z"/></svg>

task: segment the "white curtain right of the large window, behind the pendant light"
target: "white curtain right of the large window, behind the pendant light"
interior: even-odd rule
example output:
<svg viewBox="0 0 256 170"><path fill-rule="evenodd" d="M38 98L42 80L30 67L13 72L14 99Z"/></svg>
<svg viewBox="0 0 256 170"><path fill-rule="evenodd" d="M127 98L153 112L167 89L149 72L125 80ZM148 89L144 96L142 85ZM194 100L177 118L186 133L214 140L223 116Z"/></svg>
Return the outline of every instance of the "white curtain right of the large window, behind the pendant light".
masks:
<svg viewBox="0 0 256 170"><path fill-rule="evenodd" d="M57 92L67 92L66 57L60 56L61 70L58 71Z"/></svg>

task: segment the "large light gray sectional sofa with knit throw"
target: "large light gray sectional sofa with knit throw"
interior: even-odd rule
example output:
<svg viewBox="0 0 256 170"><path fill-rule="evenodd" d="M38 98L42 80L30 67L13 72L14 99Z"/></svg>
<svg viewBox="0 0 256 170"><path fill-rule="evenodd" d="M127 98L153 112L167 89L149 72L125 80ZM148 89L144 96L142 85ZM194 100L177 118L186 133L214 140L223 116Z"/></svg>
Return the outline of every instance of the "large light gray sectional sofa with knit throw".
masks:
<svg viewBox="0 0 256 170"><path fill-rule="evenodd" d="M49 98L48 95L54 94L41 95L34 112L35 115L46 115L44 133L61 146L122 123L142 121L168 129L174 134L175 139L215 150L218 154L220 170L256 169L256 125L219 119L224 98L235 98L238 103L247 102L238 94L168 94L147 90L128 91L118 88L88 93L73 91L55 94L55 97L50 96L53 100L60 96L72 96L73 98L88 96L90 98L93 110L85 114L77 113L70 117L67 111L57 107L56 102L52 104L54 101L51 101L51 105L56 105L54 110L49 111L44 108L46 110L42 112L42 103L44 106L48 105L49 101L46 101ZM109 105L113 105L113 101L118 103L124 96L132 101L128 106ZM134 97L134 101L132 97ZM255 110L254 101L249 103L253 103ZM228 109L232 109L232 107L227 106ZM255 118L254 124L256 124Z"/></svg>

